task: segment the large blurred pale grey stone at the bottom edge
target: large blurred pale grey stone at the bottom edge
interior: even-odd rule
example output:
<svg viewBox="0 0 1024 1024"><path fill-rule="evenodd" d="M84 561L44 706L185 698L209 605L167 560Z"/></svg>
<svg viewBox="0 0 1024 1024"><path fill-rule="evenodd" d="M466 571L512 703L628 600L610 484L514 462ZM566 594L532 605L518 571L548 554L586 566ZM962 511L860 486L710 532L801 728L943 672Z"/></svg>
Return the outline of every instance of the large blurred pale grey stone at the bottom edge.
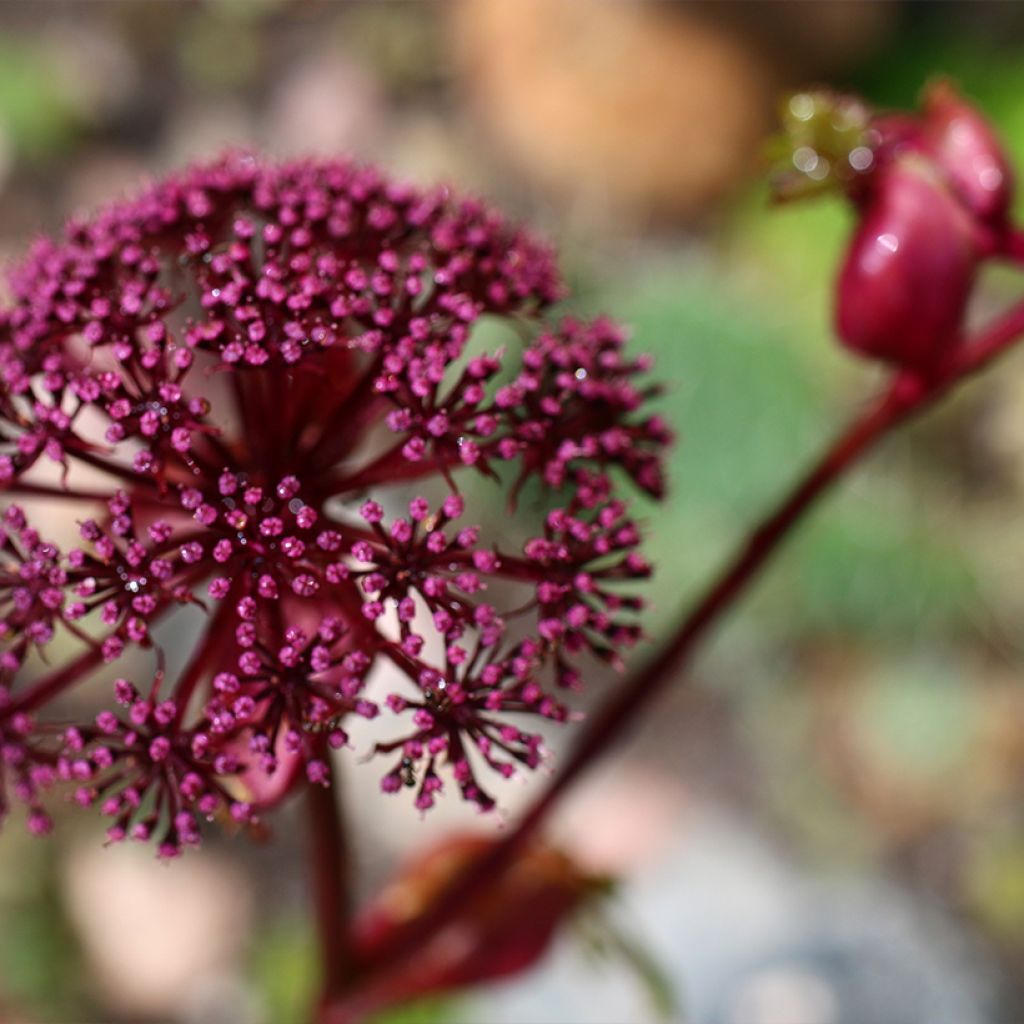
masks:
<svg viewBox="0 0 1024 1024"><path fill-rule="evenodd" d="M983 1024L997 993L969 935L910 894L815 878L720 808L688 809L624 882L623 919L699 1024ZM472 1007L479 1024L655 1024L625 966L568 935L529 977Z"/></svg>

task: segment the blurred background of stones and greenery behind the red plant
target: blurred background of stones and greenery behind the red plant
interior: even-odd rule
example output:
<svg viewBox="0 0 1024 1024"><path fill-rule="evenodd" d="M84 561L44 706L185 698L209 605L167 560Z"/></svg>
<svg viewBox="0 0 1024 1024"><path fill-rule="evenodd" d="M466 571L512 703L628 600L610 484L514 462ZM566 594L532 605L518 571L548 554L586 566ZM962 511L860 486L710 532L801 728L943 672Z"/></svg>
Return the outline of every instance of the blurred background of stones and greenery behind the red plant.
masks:
<svg viewBox="0 0 1024 1024"><path fill-rule="evenodd" d="M632 325L668 382L656 642L881 383L831 341L848 211L767 203L779 97L909 106L947 74L1021 167L1022 44L1024 7L983 2L0 2L0 256L230 145L351 154L529 221L570 305ZM975 314L1020 289L991 272ZM560 841L623 879L601 928L628 955L567 931L539 972L382 1020L653 1021L663 986L696 1024L1024 1019L1022 398L1012 357L888 442L566 804ZM486 827L346 765L364 894ZM81 816L47 843L13 821L0 1021L301 1020L302 820L271 824L165 866Z"/></svg>

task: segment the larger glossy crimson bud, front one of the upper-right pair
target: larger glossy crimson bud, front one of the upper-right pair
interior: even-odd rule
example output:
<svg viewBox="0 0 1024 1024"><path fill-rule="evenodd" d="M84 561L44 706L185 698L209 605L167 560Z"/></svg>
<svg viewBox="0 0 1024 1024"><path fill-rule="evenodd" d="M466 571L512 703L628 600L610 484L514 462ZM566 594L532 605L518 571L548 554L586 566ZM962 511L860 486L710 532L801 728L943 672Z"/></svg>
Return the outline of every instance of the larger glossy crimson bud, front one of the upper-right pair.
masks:
<svg viewBox="0 0 1024 1024"><path fill-rule="evenodd" d="M979 251L970 213L916 155L881 168L839 276L839 336L897 367L935 368L959 337Z"/></svg>

